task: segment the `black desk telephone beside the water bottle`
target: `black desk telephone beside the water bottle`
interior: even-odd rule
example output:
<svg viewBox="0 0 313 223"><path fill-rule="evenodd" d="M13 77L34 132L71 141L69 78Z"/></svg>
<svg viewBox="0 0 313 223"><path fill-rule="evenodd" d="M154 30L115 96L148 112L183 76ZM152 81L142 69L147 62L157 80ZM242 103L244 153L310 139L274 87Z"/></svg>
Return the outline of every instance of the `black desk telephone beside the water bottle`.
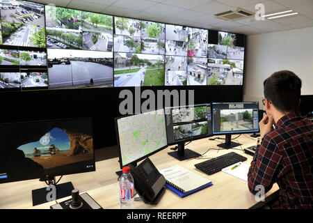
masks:
<svg viewBox="0 0 313 223"><path fill-rule="evenodd" d="M154 166L149 158L137 167L129 164L134 178L135 189L145 203L155 204L166 190L166 178Z"/></svg>

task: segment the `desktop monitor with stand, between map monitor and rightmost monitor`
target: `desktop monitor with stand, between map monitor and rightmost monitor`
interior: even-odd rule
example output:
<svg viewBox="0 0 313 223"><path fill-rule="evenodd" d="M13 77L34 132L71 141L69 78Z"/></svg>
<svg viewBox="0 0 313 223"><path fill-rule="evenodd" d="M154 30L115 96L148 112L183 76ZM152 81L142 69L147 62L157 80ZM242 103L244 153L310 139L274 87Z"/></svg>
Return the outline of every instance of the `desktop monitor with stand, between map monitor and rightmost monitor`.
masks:
<svg viewBox="0 0 313 223"><path fill-rule="evenodd" d="M186 141L193 141L212 135L211 104L166 107L166 132L168 145L178 144L178 150L168 153L177 160L200 156L188 148Z"/></svg>

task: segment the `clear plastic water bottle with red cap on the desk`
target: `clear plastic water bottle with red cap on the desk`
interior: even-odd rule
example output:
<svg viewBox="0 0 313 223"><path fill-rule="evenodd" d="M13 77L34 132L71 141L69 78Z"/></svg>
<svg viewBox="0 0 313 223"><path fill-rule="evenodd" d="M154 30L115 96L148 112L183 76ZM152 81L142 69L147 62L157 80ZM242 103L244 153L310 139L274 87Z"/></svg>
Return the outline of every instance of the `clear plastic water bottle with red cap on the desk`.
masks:
<svg viewBox="0 0 313 223"><path fill-rule="evenodd" d="M130 167L123 167L123 174L120 176L120 208L135 209L134 207L134 178L130 174Z"/></svg>

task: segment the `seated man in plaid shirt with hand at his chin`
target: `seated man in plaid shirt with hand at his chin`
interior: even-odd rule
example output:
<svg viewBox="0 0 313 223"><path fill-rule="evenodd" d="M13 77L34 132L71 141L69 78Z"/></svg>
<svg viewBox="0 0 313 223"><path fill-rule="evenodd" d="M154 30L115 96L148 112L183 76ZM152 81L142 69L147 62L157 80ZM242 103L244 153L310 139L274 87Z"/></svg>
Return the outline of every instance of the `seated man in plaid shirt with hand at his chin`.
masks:
<svg viewBox="0 0 313 223"><path fill-rule="evenodd" d="M280 187L271 208L313 207L313 125L300 116L301 80L282 70L264 81L266 116L259 122L260 141L248 172L252 194L263 185ZM275 124L275 129L273 128Z"/></svg>

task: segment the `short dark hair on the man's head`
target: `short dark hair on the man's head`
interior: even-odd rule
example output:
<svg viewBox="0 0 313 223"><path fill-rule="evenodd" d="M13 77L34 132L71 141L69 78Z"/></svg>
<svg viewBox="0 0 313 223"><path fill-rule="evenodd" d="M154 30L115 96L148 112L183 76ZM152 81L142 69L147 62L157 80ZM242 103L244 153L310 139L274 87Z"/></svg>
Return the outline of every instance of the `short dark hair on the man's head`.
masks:
<svg viewBox="0 0 313 223"><path fill-rule="evenodd" d="M289 70L274 72L264 82L264 97L281 112L296 112L301 95L301 79Z"/></svg>

